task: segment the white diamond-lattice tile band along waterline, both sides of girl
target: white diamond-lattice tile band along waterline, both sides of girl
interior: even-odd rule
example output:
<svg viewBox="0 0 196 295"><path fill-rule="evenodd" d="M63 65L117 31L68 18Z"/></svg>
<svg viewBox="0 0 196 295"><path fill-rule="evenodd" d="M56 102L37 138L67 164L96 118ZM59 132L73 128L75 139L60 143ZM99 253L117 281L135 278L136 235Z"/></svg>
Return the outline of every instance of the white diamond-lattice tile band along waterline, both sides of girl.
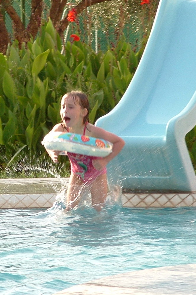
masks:
<svg viewBox="0 0 196 295"><path fill-rule="evenodd" d="M57 194L4 194L0 195L1 209L50 208ZM196 193L125 193L122 206L130 208L149 207L193 207L196 206Z"/></svg>

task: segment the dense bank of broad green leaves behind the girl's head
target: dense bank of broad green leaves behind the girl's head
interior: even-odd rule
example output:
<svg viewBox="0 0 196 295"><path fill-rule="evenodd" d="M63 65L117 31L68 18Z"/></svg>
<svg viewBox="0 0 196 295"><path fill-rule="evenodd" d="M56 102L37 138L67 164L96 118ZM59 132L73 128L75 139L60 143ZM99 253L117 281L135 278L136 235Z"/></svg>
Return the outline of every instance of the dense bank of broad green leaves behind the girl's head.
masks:
<svg viewBox="0 0 196 295"><path fill-rule="evenodd" d="M0 144L42 151L41 140L60 121L64 93L80 89L90 100L90 120L119 102L138 65L138 57L122 38L116 48L95 52L80 41L67 42L64 54L51 20L35 41L15 41L0 54ZM14 155L14 152L11 156Z"/></svg>

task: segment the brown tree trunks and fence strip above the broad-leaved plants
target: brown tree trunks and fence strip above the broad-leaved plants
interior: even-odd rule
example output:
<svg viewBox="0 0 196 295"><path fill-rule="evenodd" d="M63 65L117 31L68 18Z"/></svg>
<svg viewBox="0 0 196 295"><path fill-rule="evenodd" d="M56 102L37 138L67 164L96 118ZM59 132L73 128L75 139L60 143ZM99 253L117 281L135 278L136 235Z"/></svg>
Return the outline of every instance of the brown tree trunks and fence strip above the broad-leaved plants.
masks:
<svg viewBox="0 0 196 295"><path fill-rule="evenodd" d="M79 24L72 23L71 27L94 50L96 46L106 50L108 44L116 45L122 33L127 42L138 46L151 28L157 6L158 0L144 6L140 0L1 0L0 52L5 54L8 43L15 39L19 44L29 41L31 36L35 39L48 17L64 38L70 31L67 13L72 8L77 10Z"/></svg>

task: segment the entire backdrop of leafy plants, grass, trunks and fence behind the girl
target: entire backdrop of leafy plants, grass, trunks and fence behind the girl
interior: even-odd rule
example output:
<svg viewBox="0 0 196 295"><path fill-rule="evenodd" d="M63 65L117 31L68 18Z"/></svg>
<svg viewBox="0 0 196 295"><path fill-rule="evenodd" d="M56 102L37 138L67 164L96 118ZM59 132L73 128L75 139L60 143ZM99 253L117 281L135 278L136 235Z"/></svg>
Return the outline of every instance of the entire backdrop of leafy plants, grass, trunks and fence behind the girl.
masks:
<svg viewBox="0 0 196 295"><path fill-rule="evenodd" d="M84 2L0 3L1 177L67 176L67 158L55 167L41 145L60 120L62 95L84 91L93 123L114 108L135 73L158 0L145 6L111 0L109 9L107 1ZM67 13L75 7L78 22L68 23ZM79 42L70 39L72 33ZM194 128L186 141L196 167L195 134Z"/></svg>

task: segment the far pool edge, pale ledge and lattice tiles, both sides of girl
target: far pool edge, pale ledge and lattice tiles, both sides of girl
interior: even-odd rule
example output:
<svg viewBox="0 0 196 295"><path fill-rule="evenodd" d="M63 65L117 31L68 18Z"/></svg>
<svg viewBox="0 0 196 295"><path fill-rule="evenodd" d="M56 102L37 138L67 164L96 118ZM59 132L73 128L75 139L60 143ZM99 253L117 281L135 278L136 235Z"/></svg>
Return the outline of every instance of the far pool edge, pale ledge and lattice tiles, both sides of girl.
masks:
<svg viewBox="0 0 196 295"><path fill-rule="evenodd" d="M49 208L66 192L69 178L0 179L0 209ZM196 192L121 193L123 207L195 207Z"/></svg>

